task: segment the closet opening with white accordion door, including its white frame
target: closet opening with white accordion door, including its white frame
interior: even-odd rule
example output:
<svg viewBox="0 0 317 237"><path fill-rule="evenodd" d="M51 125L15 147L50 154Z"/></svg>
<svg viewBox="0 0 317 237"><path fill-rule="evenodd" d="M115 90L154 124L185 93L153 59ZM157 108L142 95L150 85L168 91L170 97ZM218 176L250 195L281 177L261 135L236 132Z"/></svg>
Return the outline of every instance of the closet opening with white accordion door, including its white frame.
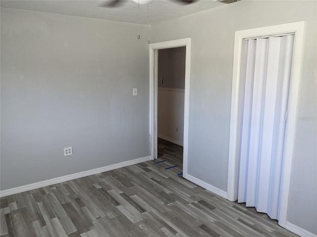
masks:
<svg viewBox="0 0 317 237"><path fill-rule="evenodd" d="M304 26L236 31L234 41L227 199L286 229Z"/></svg>

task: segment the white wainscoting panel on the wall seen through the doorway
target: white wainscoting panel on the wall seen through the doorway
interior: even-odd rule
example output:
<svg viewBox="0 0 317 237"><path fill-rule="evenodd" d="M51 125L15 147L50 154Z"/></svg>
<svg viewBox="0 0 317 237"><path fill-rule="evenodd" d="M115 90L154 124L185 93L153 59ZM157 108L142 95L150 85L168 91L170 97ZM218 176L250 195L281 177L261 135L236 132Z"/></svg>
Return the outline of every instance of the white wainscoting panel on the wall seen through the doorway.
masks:
<svg viewBox="0 0 317 237"><path fill-rule="evenodd" d="M159 87L158 137L183 146L184 89Z"/></svg>

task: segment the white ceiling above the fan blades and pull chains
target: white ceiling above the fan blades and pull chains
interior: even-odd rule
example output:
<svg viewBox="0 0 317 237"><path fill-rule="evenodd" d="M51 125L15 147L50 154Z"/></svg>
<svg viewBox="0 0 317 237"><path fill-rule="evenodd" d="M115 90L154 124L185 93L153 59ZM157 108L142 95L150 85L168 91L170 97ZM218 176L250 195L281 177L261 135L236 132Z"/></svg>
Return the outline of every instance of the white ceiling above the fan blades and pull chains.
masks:
<svg viewBox="0 0 317 237"><path fill-rule="evenodd" d="M119 7L106 8L100 6L104 2L103 0L1 0L1 7L138 23L137 3L126 0ZM149 5L140 5L139 22L146 25L154 24L223 5L226 4L214 0L199 0L189 5L177 4L173 0L154 0ZM148 6L150 22L148 22Z"/></svg>

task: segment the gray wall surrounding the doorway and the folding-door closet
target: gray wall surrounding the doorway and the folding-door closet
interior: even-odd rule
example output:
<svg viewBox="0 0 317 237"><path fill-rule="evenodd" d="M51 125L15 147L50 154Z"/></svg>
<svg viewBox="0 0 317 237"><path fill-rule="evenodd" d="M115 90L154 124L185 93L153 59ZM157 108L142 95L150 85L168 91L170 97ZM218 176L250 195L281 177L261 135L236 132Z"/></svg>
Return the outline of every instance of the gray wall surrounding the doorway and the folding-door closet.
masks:
<svg viewBox="0 0 317 237"><path fill-rule="evenodd" d="M317 234L317 1L239 1L151 27L191 38L188 173L227 189L234 32L306 21L288 221ZM197 27L199 25L199 27Z"/></svg>

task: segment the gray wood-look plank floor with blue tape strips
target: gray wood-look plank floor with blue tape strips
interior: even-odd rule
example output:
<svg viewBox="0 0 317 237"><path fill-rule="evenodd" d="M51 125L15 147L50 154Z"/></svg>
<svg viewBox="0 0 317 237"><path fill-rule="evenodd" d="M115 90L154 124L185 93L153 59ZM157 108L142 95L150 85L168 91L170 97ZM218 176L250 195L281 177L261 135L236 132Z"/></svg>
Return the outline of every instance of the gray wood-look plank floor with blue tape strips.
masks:
<svg viewBox="0 0 317 237"><path fill-rule="evenodd" d="M147 161L1 197L0 236L296 236L266 214L177 176L180 151L162 142L159 160L164 162Z"/></svg>

